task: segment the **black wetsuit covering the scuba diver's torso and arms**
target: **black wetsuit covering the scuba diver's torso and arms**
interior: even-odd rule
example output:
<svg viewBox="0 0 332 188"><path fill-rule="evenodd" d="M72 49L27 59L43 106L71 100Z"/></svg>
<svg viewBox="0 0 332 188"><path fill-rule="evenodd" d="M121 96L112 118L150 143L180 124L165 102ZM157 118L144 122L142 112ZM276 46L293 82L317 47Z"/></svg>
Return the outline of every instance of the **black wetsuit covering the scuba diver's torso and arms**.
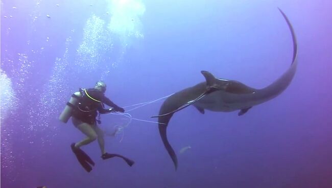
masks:
<svg viewBox="0 0 332 188"><path fill-rule="evenodd" d="M80 92L82 97L76 97L79 100L79 104L74 110L73 117L84 123L95 125L96 117L98 115L97 111L99 111L99 113L109 113L111 111L125 111L123 108L117 106L107 97L105 97L104 93L98 89L86 89L86 92L84 91L84 89L80 89ZM73 97L74 96L75 95L73 95ZM104 109L104 104L112 107L113 109Z"/></svg>

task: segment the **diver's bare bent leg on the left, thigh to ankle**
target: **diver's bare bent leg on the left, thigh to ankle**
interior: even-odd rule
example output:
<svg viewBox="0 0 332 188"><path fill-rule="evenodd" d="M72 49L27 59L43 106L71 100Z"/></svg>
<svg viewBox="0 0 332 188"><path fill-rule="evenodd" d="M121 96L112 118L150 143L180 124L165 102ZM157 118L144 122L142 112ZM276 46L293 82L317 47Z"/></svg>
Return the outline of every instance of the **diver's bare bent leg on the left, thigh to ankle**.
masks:
<svg viewBox="0 0 332 188"><path fill-rule="evenodd" d="M77 120L75 117L73 118L73 123L74 125L83 133L85 134L87 137L84 138L83 140L81 140L80 142L75 144L76 148L79 148L81 146L87 145L91 142L93 142L94 140L97 139L97 133L96 131L94 131L94 129L92 128L94 125L90 125L84 122L81 122L79 120Z"/></svg>

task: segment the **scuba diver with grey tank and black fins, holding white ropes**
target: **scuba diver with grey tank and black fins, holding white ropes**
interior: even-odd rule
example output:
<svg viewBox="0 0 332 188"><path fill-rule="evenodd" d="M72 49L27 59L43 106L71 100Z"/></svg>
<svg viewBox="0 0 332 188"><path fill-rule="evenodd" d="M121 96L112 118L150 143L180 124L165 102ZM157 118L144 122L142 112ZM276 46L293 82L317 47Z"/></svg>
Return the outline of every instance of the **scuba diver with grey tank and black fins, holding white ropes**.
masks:
<svg viewBox="0 0 332 188"><path fill-rule="evenodd" d="M72 95L59 116L59 120L63 123L67 123L70 116L72 116L74 126L87 136L80 142L70 145L78 161L87 172L92 170L91 166L94 166L94 162L83 150L80 149L80 147L87 145L96 139L98 140L102 159L120 157L124 159L130 167L134 164L133 160L130 160L122 155L105 152L104 132L97 126L97 122L99 124L101 123L99 119L96 119L98 112L99 114L114 111L122 113L125 112L123 108L117 106L105 97L105 91L106 84L102 81L98 81L94 88L80 88L78 92L75 92ZM111 108L105 109L104 103Z"/></svg>

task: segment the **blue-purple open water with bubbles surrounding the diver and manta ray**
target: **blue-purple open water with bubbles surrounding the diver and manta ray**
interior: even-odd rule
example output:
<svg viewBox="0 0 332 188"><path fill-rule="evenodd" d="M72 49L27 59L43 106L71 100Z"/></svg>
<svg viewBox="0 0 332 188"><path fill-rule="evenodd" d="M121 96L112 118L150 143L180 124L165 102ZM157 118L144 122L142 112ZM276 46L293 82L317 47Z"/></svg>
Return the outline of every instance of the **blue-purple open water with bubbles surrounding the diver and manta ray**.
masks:
<svg viewBox="0 0 332 188"><path fill-rule="evenodd" d="M80 87L107 84L125 107L218 78L263 88L292 58L298 68L277 98L238 112L177 112L168 138L174 170L156 123L162 100L125 108L133 119L101 115L106 151L135 160L102 160L97 142L58 116ZM1 187L332 187L332 2L280 1L1 1ZM181 150L182 149L182 150Z"/></svg>

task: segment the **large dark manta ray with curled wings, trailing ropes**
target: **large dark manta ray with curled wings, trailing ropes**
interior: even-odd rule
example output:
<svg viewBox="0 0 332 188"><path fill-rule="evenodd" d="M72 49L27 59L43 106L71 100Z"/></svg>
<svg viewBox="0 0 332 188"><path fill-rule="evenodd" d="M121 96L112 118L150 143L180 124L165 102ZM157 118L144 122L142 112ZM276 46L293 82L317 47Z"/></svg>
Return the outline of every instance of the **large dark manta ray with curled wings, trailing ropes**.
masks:
<svg viewBox="0 0 332 188"><path fill-rule="evenodd" d="M167 127L175 112L193 105L202 114L205 113L206 109L218 112L239 110L238 115L243 115L253 106L277 97L291 83L297 66L297 42L288 17L282 10L279 9L279 11L287 22L293 40L291 66L280 78L263 89L255 89L238 81L216 78L211 73L202 70L201 74L204 76L205 82L175 92L163 102L159 115L152 116L158 117L159 133L166 150L173 160L175 170L178 166L177 156L167 139Z"/></svg>

